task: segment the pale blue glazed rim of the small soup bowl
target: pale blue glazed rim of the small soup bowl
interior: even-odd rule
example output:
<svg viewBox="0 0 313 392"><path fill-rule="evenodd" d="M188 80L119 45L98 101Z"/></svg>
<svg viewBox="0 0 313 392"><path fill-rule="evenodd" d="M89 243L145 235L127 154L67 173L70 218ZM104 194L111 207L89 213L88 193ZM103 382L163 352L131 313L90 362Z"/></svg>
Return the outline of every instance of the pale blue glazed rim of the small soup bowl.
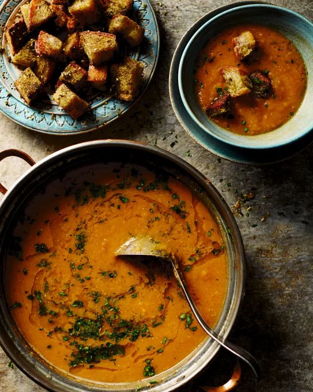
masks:
<svg viewBox="0 0 313 392"><path fill-rule="evenodd" d="M286 141L286 142L281 141L279 143L272 143L270 146L258 146L256 144L254 146L237 144L236 142L233 142L231 140L226 140L223 137L215 134L214 132L211 131L211 129L209 127L206 127L205 125L203 125L203 123L201 121L198 120L197 116L195 116L193 114L193 111L191 110L191 108L190 108L190 106L189 106L189 104L188 104L188 102L187 102L187 100L185 98L185 93L184 93L184 89L183 89L182 69L183 69L184 62L185 62L185 59L187 57L187 54L189 52L189 49L192 46L193 41L199 35L199 33L202 30L206 29L215 20L217 20L217 19L219 19L219 18L221 18L221 17L223 17L225 15L228 15L228 14L231 14L233 12L236 12L236 11L240 11L240 10L243 10L243 9L246 10L247 8L248 9L265 8L265 9L272 9L272 10L278 10L278 11L281 11L281 12L285 12L286 14L290 14L293 17L302 19L302 21L305 24L307 24L311 28L313 28L313 23L311 21L309 21L307 18L305 18L303 15L301 15L301 14L295 12L295 11L292 11L292 10L290 10L288 8L280 7L280 6L276 6L276 5L272 5L272 4L262 4L262 3L248 4L248 5L245 5L245 6L237 6L237 7L231 8L229 10L223 11L220 14L218 14L218 15L214 16L213 18L211 18L210 20L206 21L201 27L199 27L198 30L192 35L192 37L190 38L189 42L187 43L187 45L186 45L186 47L185 47L185 49L183 51L183 54L181 56L180 62L179 62L179 68L178 68L178 88L179 88L179 93L180 93L181 100L183 102L183 105L184 105L185 109L187 110L187 113L196 122L196 124L198 126L200 126L204 130L204 132L210 134L211 136L213 136L214 138L220 140L221 142L227 143L227 144L229 144L231 146L234 146L234 147L246 148L246 149L250 149L250 150L254 150L254 149L264 149L264 150L266 150L266 149L269 149L269 148L277 148L277 147L280 147L280 146L291 144L291 143L297 141L298 139L302 138L303 136L307 135L313 128L312 128L312 126L310 124L308 124L308 126L300 134L297 134L296 136L294 136L293 138L289 139L288 141ZM253 136L248 136L248 137L249 138L250 137L253 138Z"/></svg>

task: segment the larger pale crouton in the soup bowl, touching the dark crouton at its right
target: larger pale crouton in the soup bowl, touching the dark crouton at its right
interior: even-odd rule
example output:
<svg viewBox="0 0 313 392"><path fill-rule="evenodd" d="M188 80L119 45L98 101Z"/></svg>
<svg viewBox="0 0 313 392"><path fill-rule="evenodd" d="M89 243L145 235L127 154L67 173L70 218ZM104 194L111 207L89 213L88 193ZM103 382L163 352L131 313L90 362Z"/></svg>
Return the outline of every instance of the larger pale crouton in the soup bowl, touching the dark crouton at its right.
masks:
<svg viewBox="0 0 313 392"><path fill-rule="evenodd" d="M222 67L219 70L226 81L227 91L231 97L239 97L250 93L250 79L243 70L231 66Z"/></svg>

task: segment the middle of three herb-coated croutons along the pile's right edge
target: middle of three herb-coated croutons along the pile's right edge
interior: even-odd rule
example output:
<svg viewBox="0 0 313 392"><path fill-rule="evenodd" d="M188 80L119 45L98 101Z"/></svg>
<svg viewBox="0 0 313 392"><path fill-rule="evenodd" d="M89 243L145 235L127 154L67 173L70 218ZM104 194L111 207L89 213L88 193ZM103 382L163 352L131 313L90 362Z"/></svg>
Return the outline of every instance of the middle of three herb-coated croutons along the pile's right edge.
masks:
<svg viewBox="0 0 313 392"><path fill-rule="evenodd" d="M142 41L144 28L125 15L114 16L109 24L109 33L121 34L129 46L137 46Z"/></svg>

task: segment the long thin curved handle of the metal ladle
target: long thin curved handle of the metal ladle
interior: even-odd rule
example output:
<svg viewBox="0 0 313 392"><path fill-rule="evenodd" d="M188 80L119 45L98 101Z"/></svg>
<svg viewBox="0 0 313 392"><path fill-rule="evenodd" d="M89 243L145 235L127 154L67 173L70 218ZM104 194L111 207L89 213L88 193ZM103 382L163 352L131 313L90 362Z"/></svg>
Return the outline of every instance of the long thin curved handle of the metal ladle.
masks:
<svg viewBox="0 0 313 392"><path fill-rule="evenodd" d="M221 344L226 350L230 351L231 353L233 353L234 355L236 355L237 357L239 357L240 359L242 359L242 361L244 361L247 365L250 366L250 368L252 369L253 373L255 374L256 378L260 377L260 368L258 363L256 362L255 358L252 357L251 354L249 354L247 351L243 350L241 347L237 346L236 344L224 339L223 337L219 336L213 329L211 329L206 322L204 321L204 319L202 318L202 316L200 315L192 297L190 296L188 290L187 290L187 285L185 283L185 279L183 277L182 272L180 271L180 268L177 266L176 267L176 263L174 262L173 258L171 257L171 263L174 269L174 273L175 276L177 278L177 280L179 281L182 290L186 296L186 299L189 303L189 306L195 316L195 318L198 320L199 324L201 325L201 327L204 329L204 331L211 336L215 341L217 341L219 344Z"/></svg>

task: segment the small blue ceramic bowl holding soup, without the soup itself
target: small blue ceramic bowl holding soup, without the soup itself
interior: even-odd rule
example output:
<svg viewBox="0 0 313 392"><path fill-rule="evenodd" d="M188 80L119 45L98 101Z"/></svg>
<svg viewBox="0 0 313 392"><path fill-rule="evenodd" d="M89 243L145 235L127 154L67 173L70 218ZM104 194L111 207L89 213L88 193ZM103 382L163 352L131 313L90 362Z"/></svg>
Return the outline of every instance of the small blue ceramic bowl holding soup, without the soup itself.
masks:
<svg viewBox="0 0 313 392"><path fill-rule="evenodd" d="M193 69L196 58L210 38L230 24L258 23L273 27L289 38L300 52L307 69L307 89L295 115L279 128L256 136L237 135L214 123L197 102ZM313 129L313 24L303 16L269 4L250 4L221 12L205 22L191 37L182 54L178 85L188 114L204 132L236 147L268 149L290 144Z"/></svg>

